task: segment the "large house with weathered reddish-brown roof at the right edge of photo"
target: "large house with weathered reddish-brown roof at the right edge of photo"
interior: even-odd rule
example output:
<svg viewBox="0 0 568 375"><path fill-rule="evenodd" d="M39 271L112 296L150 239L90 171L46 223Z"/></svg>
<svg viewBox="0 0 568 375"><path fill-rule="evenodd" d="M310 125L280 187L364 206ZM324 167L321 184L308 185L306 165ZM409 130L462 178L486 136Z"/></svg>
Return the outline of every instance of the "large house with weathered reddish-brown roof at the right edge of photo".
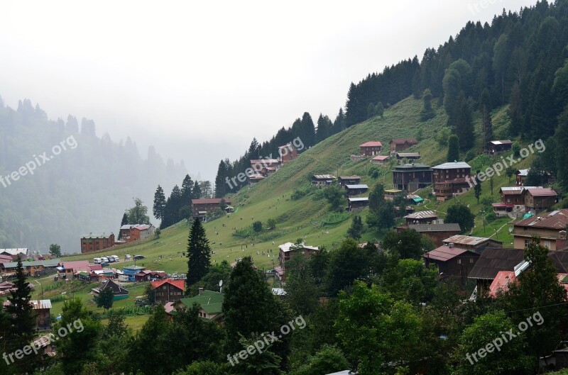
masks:
<svg viewBox="0 0 568 375"><path fill-rule="evenodd" d="M540 237L540 245L557 250L557 242L566 240L568 209L552 211L543 216L531 216L513 224L513 247L524 249L533 235ZM562 247L562 245L560 246Z"/></svg>

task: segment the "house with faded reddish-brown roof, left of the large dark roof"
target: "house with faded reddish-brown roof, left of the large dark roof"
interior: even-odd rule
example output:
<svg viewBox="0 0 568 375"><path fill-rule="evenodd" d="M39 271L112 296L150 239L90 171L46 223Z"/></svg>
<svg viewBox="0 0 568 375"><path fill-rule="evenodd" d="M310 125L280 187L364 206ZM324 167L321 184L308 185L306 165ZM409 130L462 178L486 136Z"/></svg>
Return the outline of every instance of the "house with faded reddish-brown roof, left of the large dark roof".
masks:
<svg viewBox="0 0 568 375"><path fill-rule="evenodd" d="M422 257L426 267L430 267L430 264L437 267L440 280L458 281L461 286L465 286L467 276L474 268L479 254L450 243L437 247Z"/></svg>

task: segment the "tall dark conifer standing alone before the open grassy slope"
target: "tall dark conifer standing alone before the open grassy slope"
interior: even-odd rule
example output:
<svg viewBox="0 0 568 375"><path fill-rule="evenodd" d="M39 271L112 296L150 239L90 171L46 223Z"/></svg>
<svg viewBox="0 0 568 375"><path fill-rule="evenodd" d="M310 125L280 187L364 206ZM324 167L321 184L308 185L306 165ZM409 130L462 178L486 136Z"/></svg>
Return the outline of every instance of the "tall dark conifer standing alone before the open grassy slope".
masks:
<svg viewBox="0 0 568 375"><path fill-rule="evenodd" d="M193 220L187 239L187 289L209 272L211 247L199 218Z"/></svg>

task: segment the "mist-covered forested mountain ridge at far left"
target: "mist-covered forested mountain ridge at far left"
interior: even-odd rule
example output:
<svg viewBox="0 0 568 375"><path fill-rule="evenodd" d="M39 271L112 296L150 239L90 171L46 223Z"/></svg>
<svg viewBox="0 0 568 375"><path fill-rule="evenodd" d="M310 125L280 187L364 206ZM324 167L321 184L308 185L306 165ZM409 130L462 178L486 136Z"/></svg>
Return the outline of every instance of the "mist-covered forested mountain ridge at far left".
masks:
<svg viewBox="0 0 568 375"><path fill-rule="evenodd" d="M33 174L6 181L31 162L38 164ZM63 252L78 252L81 235L118 235L133 197L150 206L158 183L173 186L185 174L182 162L165 163L153 147L143 159L130 138L97 137L94 121L52 121L28 99L16 110L0 99L0 247L47 252L58 243Z"/></svg>

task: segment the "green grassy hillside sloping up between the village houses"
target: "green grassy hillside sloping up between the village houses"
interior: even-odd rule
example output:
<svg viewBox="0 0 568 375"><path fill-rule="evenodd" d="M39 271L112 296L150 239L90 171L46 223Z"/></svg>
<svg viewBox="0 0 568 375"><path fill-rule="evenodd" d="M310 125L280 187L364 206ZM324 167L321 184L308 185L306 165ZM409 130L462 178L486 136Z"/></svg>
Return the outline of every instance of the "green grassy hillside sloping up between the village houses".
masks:
<svg viewBox="0 0 568 375"><path fill-rule="evenodd" d="M408 98L400 103L388 108L383 118L371 118L364 123L348 128L341 133L327 138L323 142L311 147L310 150L302 153L293 162L285 164L278 172L265 179L260 184L251 189L244 188L238 194L231 196L232 205L236 208L234 213L228 216L212 220L204 224L204 228L212 247L212 262L234 262L239 257L251 255L255 263L263 269L271 269L273 264L278 262L278 245L283 242L295 242L302 238L308 245L324 246L332 248L345 237L346 230L351 225L351 218L355 213L330 213L327 200L318 194L318 191L311 190L310 194L297 200L291 196L295 189L310 190L310 179L313 174L339 174L351 175L358 174L362 178L362 183L374 186L378 182L385 184L386 189L392 188L391 164L377 167L369 160L361 162L351 162L350 155L359 155L359 145L369 140L380 140L383 142L383 155L388 155L388 142L392 138L419 138L420 143L408 151L417 151L422 155L421 162L436 165L445 162L447 148L438 142L440 138L447 138L449 130L445 124L447 116L443 108L435 108L436 116L430 121L420 123L419 115L422 108L422 101ZM479 118L476 122L476 142L481 142L481 123ZM506 108L498 108L493 112L493 128L496 138L505 138L508 125ZM481 144L477 145L481 147ZM474 155L475 156L475 155ZM498 157L488 157L477 155L469 164L474 171L484 170L500 159ZM532 157L515 164L515 168L527 168L530 166ZM371 177L371 172L377 170ZM514 177L512 179L514 184ZM482 198L489 196L493 202L499 200L498 191L501 186L509 186L508 177L504 174L495 177L493 180L493 195L489 188L489 182L482 185ZM433 209L440 213L443 218L447 208L455 202L462 202L470 206L476 214L476 227L472 235L494 237L501 240L505 245L512 242L512 236L508 233L510 227L509 219L498 219L492 223L486 223L485 227L481 220L481 203L478 204L471 190L457 198L446 202L437 202L432 196L432 189L422 189L419 194L426 200L417 206L417 210ZM481 202L481 199L480 199ZM361 212L366 216L367 209ZM234 235L236 231L250 228L252 223L260 220L266 228L269 219L276 222L273 230L263 230L258 235L250 237L238 237ZM399 223L402 219L399 220ZM332 223L326 225L325 223ZM124 254L143 254L146 259L136 262L148 269L163 270L168 273L182 273L187 271L187 258L183 253L187 247L187 235L190 223L178 223L162 231L159 239L144 240L134 245L122 245L112 250L94 254L80 254L65 257L65 260L92 259L102 255L116 254L124 259ZM367 230L362 241L380 240L384 233L376 230ZM115 267L122 267L133 262L121 262ZM49 282L49 281L46 281ZM37 293L36 289L36 293ZM87 294L89 288L77 293L84 294L85 301L90 300ZM135 293L143 293L143 288L136 289ZM54 292L55 293L55 292ZM60 300L62 298L59 298ZM132 305L134 298L120 301L116 307ZM94 303L88 302L89 308L96 309ZM54 303L55 310L60 310L62 301ZM132 317L133 324L139 325L143 321L141 318Z"/></svg>

